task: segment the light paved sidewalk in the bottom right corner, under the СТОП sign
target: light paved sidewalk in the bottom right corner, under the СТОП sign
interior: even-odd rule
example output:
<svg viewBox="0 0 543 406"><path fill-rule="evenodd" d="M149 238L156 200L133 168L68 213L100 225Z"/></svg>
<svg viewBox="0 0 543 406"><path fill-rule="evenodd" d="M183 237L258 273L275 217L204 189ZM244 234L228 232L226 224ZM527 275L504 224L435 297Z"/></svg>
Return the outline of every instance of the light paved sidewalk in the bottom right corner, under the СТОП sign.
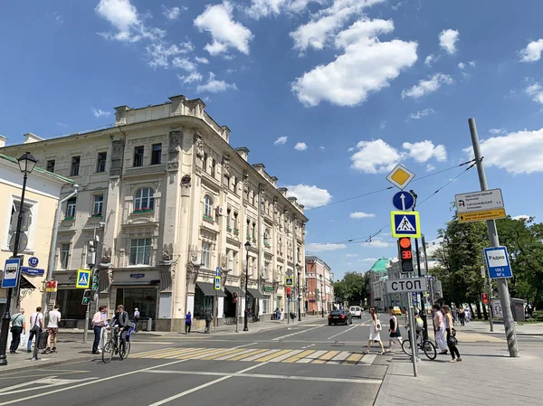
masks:
<svg viewBox="0 0 543 406"><path fill-rule="evenodd" d="M458 348L462 363L449 363L449 354L438 355L435 361L423 359L418 364L416 378L408 357L396 351L374 405L519 406L543 403L541 348L520 346L519 358L510 358L507 345L473 346L461 342Z"/></svg>

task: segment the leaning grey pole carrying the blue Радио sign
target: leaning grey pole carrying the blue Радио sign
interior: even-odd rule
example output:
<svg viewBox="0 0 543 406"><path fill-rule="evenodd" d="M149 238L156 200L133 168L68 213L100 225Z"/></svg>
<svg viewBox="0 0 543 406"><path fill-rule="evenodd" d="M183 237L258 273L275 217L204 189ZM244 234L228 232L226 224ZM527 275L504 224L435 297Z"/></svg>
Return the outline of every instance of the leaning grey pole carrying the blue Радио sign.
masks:
<svg viewBox="0 0 543 406"><path fill-rule="evenodd" d="M472 136L473 155L475 156L477 164L477 173L479 174L479 184L481 184L481 191L488 189L486 175L484 173L484 165L482 165L481 146L479 145L479 136L477 135L477 126L475 125L475 119L470 118L468 120L470 126L470 133ZM489 240L491 241L491 247L499 247L500 240L498 238L498 230L496 229L496 222L494 220L487 220L487 229L489 232ZM498 292L500 294L501 311L503 313L503 322L505 325L505 335L507 337L507 346L509 348L510 356L519 356L519 344L517 342L517 333L515 331L515 322L511 312L510 293L507 287L507 279L497 279Z"/></svg>

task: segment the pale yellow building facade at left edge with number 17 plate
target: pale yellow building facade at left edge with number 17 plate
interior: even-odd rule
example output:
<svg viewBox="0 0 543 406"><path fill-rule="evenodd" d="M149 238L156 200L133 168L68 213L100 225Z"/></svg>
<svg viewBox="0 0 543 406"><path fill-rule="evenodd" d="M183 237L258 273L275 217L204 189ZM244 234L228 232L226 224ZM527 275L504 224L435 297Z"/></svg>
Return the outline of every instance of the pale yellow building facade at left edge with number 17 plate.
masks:
<svg viewBox="0 0 543 406"><path fill-rule="evenodd" d="M0 146L5 138L0 137ZM21 154L22 155L22 154ZM70 179L54 175L36 167L28 175L24 196L24 217L21 223L19 256L23 256L19 289L14 291L11 310L24 308L28 314L42 305L43 280L49 265L54 212L61 189ZM23 191L23 174L17 160L0 154L0 263L12 257L14 234ZM13 244L13 245L12 245ZM31 258L38 260L29 261ZM30 262L30 263L29 263ZM0 273L0 279L2 274ZM4 315L7 289L0 288L0 314Z"/></svg>

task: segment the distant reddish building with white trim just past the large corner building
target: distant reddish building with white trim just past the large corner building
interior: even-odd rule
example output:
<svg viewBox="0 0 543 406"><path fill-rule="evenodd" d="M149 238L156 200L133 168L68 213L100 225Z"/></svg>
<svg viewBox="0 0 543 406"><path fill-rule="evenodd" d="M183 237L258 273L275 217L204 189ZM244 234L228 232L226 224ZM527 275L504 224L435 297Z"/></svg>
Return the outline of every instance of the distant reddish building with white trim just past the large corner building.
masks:
<svg viewBox="0 0 543 406"><path fill-rule="evenodd" d="M316 256L306 256L306 311L310 314L325 313L334 304L334 274L328 264ZM323 293L324 292L324 293Z"/></svg>

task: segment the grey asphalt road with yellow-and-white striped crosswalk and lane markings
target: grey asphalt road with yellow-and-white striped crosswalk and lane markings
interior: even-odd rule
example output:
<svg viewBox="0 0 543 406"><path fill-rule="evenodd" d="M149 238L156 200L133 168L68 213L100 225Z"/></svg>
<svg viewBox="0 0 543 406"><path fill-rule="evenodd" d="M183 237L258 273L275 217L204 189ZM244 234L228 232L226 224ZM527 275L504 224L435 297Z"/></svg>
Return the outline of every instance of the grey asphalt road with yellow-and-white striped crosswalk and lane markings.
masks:
<svg viewBox="0 0 543 406"><path fill-rule="evenodd" d="M315 319L250 335L157 340L153 351L146 346L124 361L3 374L0 406L371 405L391 357L362 354L367 319L352 326Z"/></svg>

